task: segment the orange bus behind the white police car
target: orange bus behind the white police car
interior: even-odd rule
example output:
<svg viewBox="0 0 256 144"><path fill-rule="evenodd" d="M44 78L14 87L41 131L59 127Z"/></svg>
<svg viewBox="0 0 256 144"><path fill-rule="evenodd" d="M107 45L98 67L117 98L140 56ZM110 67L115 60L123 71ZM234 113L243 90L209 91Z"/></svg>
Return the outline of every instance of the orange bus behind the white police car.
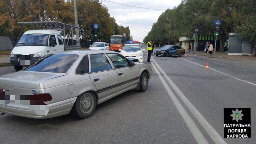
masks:
<svg viewBox="0 0 256 144"><path fill-rule="evenodd" d="M110 51L119 51L125 45L126 37L124 35L112 35L110 37Z"/></svg>

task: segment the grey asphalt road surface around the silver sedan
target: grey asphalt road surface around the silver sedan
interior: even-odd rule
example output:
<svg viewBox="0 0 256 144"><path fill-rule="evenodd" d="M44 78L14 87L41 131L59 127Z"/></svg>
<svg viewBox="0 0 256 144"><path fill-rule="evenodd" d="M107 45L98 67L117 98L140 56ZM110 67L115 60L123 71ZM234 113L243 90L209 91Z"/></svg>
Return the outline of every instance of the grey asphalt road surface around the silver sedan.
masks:
<svg viewBox="0 0 256 144"><path fill-rule="evenodd" d="M99 104L87 119L0 115L1 143L256 142L255 62L193 55L152 61L145 92L127 91ZM207 61L211 70L203 68ZM0 75L11 72L0 68ZM251 107L252 138L224 139L223 108L233 107Z"/></svg>

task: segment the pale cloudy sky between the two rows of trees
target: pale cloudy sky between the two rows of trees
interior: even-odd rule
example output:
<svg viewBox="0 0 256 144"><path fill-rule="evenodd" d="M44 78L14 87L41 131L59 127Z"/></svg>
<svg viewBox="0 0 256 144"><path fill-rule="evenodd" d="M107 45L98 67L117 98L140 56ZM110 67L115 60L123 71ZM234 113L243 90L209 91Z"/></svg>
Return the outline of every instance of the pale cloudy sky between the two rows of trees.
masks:
<svg viewBox="0 0 256 144"><path fill-rule="evenodd" d="M101 0L109 9L110 16L114 16L116 23L124 27L129 26L133 40L143 41L151 30L152 25L157 22L159 15L166 9L173 9L180 4L181 0ZM134 8L138 6L150 9ZM162 10L153 10L162 9Z"/></svg>

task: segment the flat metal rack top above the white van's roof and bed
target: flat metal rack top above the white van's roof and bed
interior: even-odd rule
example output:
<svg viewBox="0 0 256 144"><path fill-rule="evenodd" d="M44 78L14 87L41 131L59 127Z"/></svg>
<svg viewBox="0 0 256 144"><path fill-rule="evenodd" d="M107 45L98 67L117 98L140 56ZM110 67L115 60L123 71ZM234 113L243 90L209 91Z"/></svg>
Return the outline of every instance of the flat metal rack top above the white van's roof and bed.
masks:
<svg viewBox="0 0 256 144"><path fill-rule="evenodd" d="M36 25L41 27L48 27L48 28L54 28L54 29L65 29L65 28L77 28L77 26L68 25L65 23L60 23L58 21L33 21L33 22L18 22L18 24L27 24L27 25Z"/></svg>

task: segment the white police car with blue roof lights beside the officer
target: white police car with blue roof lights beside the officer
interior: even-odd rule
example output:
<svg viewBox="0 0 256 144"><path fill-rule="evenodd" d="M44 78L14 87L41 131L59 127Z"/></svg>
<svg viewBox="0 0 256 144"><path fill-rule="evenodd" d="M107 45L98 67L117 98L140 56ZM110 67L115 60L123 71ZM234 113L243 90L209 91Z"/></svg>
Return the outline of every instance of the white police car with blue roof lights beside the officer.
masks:
<svg viewBox="0 0 256 144"><path fill-rule="evenodd" d="M131 61L143 63L143 52L145 51L146 50L142 49L140 44L125 44L121 49L120 54L127 57Z"/></svg>

